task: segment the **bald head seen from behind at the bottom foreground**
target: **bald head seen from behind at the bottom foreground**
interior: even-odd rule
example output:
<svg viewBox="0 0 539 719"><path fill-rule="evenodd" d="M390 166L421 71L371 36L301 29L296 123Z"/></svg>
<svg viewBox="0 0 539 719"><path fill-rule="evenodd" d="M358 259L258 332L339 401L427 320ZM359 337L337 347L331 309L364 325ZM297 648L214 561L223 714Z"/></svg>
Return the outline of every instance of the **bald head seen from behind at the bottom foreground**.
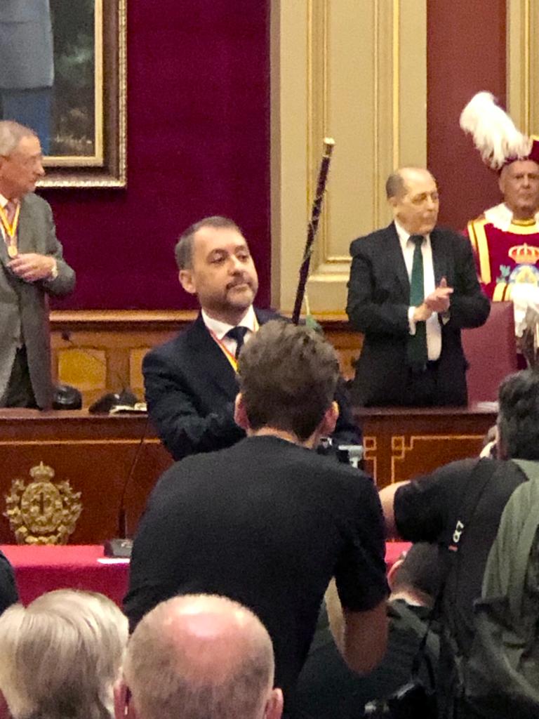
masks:
<svg viewBox="0 0 539 719"><path fill-rule="evenodd" d="M124 679L138 719L280 716L270 636L226 597L186 595L158 605L129 641Z"/></svg>

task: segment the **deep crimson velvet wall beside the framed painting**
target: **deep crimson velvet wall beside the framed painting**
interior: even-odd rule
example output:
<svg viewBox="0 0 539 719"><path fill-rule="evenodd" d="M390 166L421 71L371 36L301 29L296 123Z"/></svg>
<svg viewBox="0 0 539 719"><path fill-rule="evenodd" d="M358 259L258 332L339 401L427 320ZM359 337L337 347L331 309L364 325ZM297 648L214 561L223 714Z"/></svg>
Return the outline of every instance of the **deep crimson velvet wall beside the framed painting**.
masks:
<svg viewBox="0 0 539 719"><path fill-rule="evenodd" d="M128 3L128 185L43 191L78 275L57 308L188 308L173 247L234 218L270 301L270 50L264 0Z"/></svg>

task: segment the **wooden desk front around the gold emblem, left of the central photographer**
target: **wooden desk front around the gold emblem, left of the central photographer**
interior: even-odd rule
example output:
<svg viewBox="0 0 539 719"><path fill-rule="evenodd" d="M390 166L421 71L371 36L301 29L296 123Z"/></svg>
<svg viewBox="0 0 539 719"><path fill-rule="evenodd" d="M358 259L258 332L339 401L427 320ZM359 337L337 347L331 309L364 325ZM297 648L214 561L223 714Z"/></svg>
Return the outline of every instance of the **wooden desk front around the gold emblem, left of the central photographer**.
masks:
<svg viewBox="0 0 539 719"><path fill-rule="evenodd" d="M147 496L172 459L144 415L90 415L86 410L0 410L0 542L14 543L5 495L18 478L46 464L54 482L68 480L83 505L70 544L99 544L118 535L121 493L142 436L134 472L126 490L129 531L137 527Z"/></svg>

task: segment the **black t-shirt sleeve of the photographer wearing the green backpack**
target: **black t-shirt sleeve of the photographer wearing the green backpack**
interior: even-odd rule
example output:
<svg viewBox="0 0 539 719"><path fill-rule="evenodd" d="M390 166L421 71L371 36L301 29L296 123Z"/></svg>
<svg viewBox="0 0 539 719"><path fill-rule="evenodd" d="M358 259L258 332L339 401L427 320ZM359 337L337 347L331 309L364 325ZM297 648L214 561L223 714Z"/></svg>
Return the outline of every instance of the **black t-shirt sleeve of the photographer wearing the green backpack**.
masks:
<svg viewBox="0 0 539 719"><path fill-rule="evenodd" d="M451 462L430 475L403 485L395 493L395 524L407 541L441 541L459 508L476 459Z"/></svg>

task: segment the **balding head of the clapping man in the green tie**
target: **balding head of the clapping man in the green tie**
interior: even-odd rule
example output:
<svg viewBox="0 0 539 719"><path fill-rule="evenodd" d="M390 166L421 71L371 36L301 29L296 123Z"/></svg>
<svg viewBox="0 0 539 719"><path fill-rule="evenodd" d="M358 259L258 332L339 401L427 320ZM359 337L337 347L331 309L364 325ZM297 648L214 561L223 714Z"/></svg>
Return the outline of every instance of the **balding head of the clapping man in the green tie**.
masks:
<svg viewBox="0 0 539 719"><path fill-rule="evenodd" d="M428 234L436 225L438 188L425 168L395 170L387 178L386 194L395 220L410 234Z"/></svg>

